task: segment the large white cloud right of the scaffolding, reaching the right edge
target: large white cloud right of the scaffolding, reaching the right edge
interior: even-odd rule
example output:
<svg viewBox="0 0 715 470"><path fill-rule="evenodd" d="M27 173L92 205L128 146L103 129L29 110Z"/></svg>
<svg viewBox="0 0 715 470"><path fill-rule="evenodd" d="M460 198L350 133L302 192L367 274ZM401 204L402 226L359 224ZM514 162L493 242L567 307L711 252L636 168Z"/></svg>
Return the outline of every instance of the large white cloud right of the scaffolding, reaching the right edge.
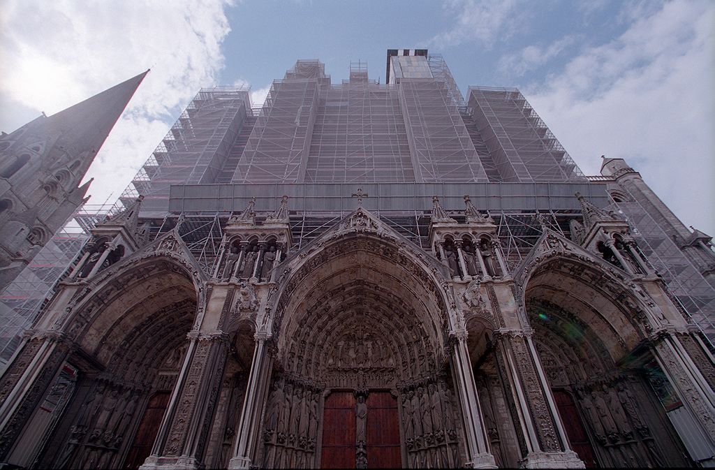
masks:
<svg viewBox="0 0 715 470"><path fill-rule="evenodd" d="M623 157L686 225L715 234L715 4L673 1L525 89L588 174Z"/></svg>

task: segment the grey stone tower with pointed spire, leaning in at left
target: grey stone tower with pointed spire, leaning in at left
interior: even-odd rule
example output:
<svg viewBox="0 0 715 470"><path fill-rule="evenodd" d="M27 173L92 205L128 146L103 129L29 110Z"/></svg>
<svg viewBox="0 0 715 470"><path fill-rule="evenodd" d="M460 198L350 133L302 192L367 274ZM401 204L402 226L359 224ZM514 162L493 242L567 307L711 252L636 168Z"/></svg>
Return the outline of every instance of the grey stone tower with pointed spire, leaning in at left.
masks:
<svg viewBox="0 0 715 470"><path fill-rule="evenodd" d="M148 71L147 71L148 72ZM147 72L0 137L0 289L87 200L80 185Z"/></svg>

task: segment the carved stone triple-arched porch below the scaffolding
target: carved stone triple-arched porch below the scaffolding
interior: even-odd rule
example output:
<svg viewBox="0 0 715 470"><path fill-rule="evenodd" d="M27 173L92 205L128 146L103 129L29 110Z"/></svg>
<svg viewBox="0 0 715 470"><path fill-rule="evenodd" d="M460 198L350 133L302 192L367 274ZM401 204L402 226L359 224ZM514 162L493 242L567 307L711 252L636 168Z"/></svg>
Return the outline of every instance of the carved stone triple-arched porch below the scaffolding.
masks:
<svg viewBox="0 0 715 470"><path fill-rule="evenodd" d="M462 223L434 198L431 251L360 206L292 250L287 198L263 223L251 202L207 274L180 223L147 240L141 202L94 230L2 377L4 461L316 468L340 391L358 468L389 416L410 468L686 465L681 421L715 439L711 351L605 212L509 271L468 198Z"/></svg>

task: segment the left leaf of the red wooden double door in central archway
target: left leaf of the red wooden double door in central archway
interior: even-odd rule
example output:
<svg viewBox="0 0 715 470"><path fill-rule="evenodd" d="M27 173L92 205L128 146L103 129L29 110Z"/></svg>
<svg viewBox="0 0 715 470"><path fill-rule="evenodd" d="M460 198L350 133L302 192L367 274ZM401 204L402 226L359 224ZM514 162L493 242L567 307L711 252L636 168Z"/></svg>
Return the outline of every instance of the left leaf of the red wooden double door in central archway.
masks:
<svg viewBox="0 0 715 470"><path fill-rule="evenodd" d="M332 392L325 398L322 414L323 469L355 468L355 395Z"/></svg>

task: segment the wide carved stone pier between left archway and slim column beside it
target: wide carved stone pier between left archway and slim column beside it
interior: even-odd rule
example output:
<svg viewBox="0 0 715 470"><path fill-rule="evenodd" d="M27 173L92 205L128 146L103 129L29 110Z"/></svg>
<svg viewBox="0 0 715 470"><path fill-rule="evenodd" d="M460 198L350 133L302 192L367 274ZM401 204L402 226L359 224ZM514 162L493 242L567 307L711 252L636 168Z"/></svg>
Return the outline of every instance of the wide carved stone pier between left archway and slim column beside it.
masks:
<svg viewBox="0 0 715 470"><path fill-rule="evenodd" d="M225 333L218 331L189 333L189 337L192 344L184 368L164 413L152 456L141 469L186 470L202 466L229 343Z"/></svg>

